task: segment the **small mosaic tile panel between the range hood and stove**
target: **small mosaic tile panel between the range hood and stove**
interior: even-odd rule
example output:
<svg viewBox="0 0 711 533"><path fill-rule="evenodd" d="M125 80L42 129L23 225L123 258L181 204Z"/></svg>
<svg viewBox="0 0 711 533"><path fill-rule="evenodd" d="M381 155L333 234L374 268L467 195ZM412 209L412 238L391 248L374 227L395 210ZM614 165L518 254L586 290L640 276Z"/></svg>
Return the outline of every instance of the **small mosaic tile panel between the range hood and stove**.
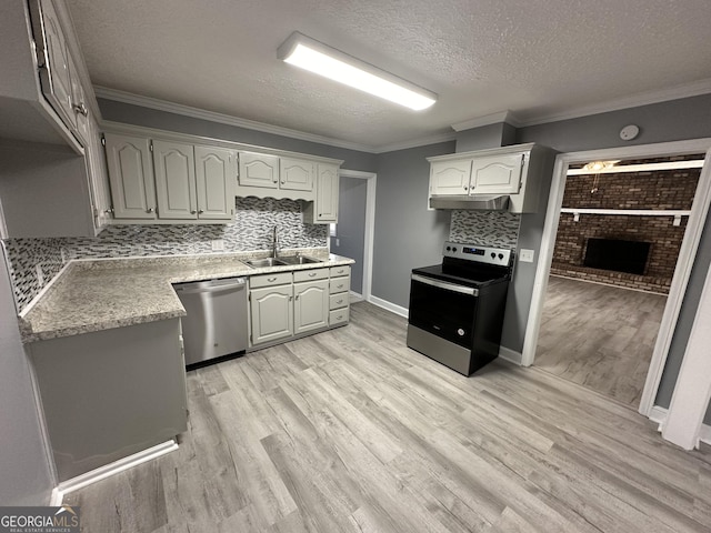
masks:
<svg viewBox="0 0 711 533"><path fill-rule="evenodd" d="M449 240L484 247L515 248L521 215L505 211L452 211Z"/></svg>

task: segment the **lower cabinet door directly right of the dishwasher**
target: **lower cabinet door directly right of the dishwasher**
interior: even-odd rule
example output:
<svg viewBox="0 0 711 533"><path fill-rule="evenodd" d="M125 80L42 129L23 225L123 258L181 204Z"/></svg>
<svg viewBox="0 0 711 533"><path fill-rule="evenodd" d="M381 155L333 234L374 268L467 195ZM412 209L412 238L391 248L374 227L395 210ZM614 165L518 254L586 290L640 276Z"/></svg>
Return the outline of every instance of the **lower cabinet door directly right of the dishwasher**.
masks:
<svg viewBox="0 0 711 533"><path fill-rule="evenodd" d="M250 301L252 344L293 335L293 285L252 289Z"/></svg>

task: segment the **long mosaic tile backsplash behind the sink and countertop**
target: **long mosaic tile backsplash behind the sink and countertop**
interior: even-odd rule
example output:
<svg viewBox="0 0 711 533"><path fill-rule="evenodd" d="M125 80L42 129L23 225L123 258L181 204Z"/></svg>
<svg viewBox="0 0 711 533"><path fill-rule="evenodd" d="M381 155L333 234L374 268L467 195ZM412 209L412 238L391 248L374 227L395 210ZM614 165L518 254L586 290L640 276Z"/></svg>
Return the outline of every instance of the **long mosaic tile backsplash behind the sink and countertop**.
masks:
<svg viewBox="0 0 711 533"><path fill-rule="evenodd" d="M18 311L72 259L212 253L213 239L224 241L224 252L269 250L274 225L282 249L327 245L328 225L303 223L299 201L238 198L236 207L227 225L113 225L94 239L8 239Z"/></svg>

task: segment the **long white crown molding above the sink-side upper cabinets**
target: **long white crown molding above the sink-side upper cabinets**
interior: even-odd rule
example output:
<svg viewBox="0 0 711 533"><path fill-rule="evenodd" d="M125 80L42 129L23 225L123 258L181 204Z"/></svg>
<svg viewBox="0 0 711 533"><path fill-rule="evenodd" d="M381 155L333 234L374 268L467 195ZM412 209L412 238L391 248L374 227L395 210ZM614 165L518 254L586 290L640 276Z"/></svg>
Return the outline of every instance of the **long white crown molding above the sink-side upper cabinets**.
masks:
<svg viewBox="0 0 711 533"><path fill-rule="evenodd" d="M290 139L299 139L301 141L317 142L319 144L327 144L329 147L346 148L348 150L356 150L359 152L378 153L374 147L368 144L360 144L357 142L344 141L342 139L317 135L313 133L307 133L304 131L282 128L280 125L257 122L254 120L240 119L230 114L207 111L204 109L192 108L190 105L169 102L167 100L160 100L158 98L143 97L141 94L120 91L118 89L110 89L108 87L94 86L93 89L98 98L103 98L107 100L113 100L117 102L140 105L142 108L156 109L158 111L181 114L183 117L191 117L193 119L209 120L210 122L219 122L221 124L236 125L238 128L244 128L248 130L261 131L262 133L271 133L274 135L288 137Z"/></svg>

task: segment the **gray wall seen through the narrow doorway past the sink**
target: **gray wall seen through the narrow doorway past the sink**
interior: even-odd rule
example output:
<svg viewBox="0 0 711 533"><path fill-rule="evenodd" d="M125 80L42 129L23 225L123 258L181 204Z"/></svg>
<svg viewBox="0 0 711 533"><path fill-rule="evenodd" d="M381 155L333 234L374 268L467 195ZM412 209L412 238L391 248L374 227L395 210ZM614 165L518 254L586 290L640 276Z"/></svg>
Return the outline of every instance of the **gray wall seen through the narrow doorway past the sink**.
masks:
<svg viewBox="0 0 711 533"><path fill-rule="evenodd" d="M359 294L363 293L367 198L368 180L341 177L337 237L331 238L331 251L356 260L351 265L351 290Z"/></svg>

